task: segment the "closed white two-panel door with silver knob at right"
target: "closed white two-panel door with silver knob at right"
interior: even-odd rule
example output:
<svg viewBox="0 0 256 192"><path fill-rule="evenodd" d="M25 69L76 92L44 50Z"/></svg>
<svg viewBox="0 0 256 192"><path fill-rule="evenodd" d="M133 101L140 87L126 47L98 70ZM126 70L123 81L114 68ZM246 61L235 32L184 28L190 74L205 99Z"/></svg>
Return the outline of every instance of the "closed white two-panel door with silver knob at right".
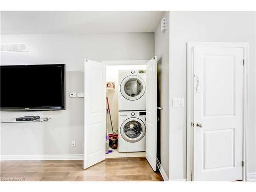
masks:
<svg viewBox="0 0 256 192"><path fill-rule="evenodd" d="M193 179L242 179L243 49L195 46Z"/></svg>

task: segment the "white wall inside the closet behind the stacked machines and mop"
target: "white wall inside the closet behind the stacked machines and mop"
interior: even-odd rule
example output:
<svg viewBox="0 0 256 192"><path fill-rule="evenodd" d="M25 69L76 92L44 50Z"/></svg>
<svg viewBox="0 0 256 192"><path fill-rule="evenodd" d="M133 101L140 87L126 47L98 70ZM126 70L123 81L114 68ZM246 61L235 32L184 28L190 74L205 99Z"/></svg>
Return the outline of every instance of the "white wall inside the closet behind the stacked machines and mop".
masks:
<svg viewBox="0 0 256 192"><path fill-rule="evenodd" d="M115 82L115 90L109 90L106 92L106 96L109 99L111 119L113 124L113 130L115 133L118 132L118 94L119 94L119 80L118 71L119 70L140 70L146 69L144 65L124 65L124 66L106 66L106 81ZM109 134L112 133L110 116L108 116L109 121Z"/></svg>

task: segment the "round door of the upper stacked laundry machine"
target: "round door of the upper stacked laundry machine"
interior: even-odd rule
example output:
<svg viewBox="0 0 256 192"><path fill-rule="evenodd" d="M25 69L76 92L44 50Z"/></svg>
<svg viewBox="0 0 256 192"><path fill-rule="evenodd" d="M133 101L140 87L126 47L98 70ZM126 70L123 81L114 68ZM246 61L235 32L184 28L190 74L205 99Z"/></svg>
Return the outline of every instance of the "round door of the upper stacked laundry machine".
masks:
<svg viewBox="0 0 256 192"><path fill-rule="evenodd" d="M137 75L125 77L120 85L122 96L128 100L138 100L141 98L145 93L145 88L145 82Z"/></svg>

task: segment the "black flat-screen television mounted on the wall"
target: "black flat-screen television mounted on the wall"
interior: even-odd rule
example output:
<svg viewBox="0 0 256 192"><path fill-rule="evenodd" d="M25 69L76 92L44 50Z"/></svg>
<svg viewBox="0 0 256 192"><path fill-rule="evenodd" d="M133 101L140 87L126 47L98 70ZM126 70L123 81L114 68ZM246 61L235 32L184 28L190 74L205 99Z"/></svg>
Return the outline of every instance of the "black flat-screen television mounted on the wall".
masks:
<svg viewBox="0 0 256 192"><path fill-rule="evenodd" d="M65 110L65 64L0 66L1 111Z"/></svg>

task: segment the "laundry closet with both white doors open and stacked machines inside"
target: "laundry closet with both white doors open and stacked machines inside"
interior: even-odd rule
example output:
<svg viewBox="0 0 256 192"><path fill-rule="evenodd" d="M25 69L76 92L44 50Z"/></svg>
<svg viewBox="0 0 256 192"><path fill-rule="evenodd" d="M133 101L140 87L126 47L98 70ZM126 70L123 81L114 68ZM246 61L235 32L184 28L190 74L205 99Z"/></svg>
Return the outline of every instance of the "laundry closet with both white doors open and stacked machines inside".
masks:
<svg viewBox="0 0 256 192"><path fill-rule="evenodd" d="M156 56L137 61L86 59L84 95L83 168L105 158L146 157L156 170Z"/></svg>

